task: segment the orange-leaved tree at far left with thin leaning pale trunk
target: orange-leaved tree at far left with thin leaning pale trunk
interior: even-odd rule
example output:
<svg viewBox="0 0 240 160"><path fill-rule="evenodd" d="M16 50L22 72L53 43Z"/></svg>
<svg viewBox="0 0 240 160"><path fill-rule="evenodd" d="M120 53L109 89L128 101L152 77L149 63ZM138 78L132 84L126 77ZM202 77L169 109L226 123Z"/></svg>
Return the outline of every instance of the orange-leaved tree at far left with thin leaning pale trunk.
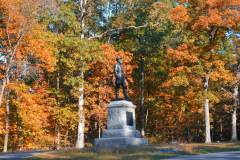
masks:
<svg viewBox="0 0 240 160"><path fill-rule="evenodd" d="M38 11L40 8L44 10L44 4L44 1L34 0L11 0L0 3L2 56L0 107L6 87L13 83L21 84L20 80L27 72L29 73L29 68L32 73L38 72L38 67L52 71L55 59L40 33L44 30L44 26L38 23L41 16ZM38 59L38 61L29 61L33 59ZM22 69L24 67L25 73ZM9 92L15 90L11 87L7 88L4 152L7 151L9 135Z"/></svg>

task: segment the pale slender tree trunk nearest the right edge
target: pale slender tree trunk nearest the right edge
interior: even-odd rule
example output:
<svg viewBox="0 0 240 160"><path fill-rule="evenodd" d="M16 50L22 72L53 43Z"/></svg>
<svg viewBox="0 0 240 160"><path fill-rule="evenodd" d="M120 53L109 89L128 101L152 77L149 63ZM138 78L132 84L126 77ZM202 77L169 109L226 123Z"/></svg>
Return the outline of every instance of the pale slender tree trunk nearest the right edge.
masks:
<svg viewBox="0 0 240 160"><path fill-rule="evenodd" d="M233 88L233 113L232 113L232 141L237 141L237 105L239 102L238 98L238 82L240 76L240 61L237 66L236 82Z"/></svg>

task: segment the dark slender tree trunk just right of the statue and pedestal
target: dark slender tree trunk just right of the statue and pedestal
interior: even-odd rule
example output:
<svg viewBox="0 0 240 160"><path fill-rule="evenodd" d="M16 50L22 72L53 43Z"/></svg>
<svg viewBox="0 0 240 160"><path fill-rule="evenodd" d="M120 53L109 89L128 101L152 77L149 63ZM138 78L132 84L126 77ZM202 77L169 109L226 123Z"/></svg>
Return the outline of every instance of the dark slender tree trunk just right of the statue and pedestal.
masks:
<svg viewBox="0 0 240 160"><path fill-rule="evenodd" d="M141 135L142 137L145 136L144 131L144 60L141 57L141 75L142 75L142 90L141 90Z"/></svg>

